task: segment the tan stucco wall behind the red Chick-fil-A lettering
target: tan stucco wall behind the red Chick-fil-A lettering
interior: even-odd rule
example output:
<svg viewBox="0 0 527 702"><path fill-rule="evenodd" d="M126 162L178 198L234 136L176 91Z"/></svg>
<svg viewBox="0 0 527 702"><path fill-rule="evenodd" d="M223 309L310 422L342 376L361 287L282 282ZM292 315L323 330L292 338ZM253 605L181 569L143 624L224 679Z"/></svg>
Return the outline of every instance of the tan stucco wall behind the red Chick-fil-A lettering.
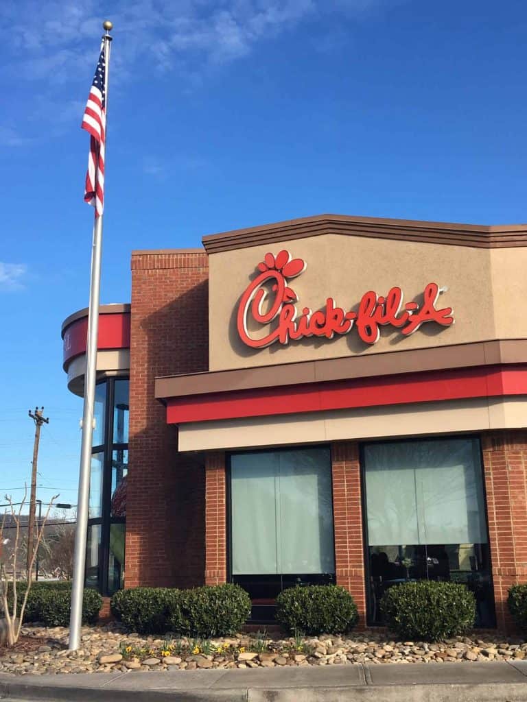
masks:
<svg viewBox="0 0 527 702"><path fill-rule="evenodd" d="M403 289L405 300L422 295L424 286L448 286L438 307L453 307L455 324L424 324L404 337L391 327L381 329L375 345L365 345L355 329L333 340L304 339L262 350L243 345L236 331L238 301L256 265L268 252L287 249L304 258L306 270L292 280L297 307L317 310L333 297L351 309L367 290L386 294ZM527 336L527 314L514 310L514 300L527 296L527 249L476 249L415 241L394 241L328 234L213 253L209 257L209 369L211 371L312 359L365 355L437 347L494 338ZM263 336L263 334L261 334Z"/></svg>

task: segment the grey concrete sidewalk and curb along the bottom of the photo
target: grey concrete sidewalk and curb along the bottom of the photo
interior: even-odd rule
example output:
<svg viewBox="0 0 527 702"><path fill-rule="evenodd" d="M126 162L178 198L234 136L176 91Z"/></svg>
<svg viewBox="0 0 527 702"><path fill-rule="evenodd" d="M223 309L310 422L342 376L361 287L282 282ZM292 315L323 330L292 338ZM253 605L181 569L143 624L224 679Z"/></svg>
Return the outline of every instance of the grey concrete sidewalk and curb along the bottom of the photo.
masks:
<svg viewBox="0 0 527 702"><path fill-rule="evenodd" d="M71 702L527 702L527 661L0 675L0 699Z"/></svg>

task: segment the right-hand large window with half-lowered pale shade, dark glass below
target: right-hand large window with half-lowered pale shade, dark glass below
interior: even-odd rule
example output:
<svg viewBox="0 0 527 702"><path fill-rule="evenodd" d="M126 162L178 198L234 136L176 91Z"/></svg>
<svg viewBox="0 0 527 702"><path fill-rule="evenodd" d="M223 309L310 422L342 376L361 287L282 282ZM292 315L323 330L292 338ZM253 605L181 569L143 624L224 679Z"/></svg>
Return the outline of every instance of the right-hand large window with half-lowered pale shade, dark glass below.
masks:
<svg viewBox="0 0 527 702"><path fill-rule="evenodd" d="M427 578L465 583L493 626L479 439L366 444L363 463L370 621L386 589Z"/></svg>

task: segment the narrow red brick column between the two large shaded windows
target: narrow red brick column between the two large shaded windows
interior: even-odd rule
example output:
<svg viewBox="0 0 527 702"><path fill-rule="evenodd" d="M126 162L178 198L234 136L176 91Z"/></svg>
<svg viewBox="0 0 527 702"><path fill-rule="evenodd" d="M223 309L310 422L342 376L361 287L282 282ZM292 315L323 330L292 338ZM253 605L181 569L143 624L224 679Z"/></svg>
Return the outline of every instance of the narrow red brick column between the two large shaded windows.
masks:
<svg viewBox="0 0 527 702"><path fill-rule="evenodd" d="M334 442L331 456L337 585L342 585L353 595L359 626L364 627L366 592L358 444Z"/></svg>

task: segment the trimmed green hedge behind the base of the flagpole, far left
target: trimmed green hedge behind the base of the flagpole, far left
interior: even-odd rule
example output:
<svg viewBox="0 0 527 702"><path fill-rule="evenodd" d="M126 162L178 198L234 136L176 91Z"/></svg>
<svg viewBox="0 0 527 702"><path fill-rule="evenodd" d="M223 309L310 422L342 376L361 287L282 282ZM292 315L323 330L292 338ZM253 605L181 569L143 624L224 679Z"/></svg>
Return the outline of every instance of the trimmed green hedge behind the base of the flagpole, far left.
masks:
<svg viewBox="0 0 527 702"><path fill-rule="evenodd" d="M17 583L17 610L24 600L27 583ZM32 583L24 611L24 621L39 621L46 626L69 626L72 597L72 583L58 581L53 583ZM8 605L13 607L13 588L8 588ZM103 598L96 590L86 588L82 600L82 622L96 623Z"/></svg>

